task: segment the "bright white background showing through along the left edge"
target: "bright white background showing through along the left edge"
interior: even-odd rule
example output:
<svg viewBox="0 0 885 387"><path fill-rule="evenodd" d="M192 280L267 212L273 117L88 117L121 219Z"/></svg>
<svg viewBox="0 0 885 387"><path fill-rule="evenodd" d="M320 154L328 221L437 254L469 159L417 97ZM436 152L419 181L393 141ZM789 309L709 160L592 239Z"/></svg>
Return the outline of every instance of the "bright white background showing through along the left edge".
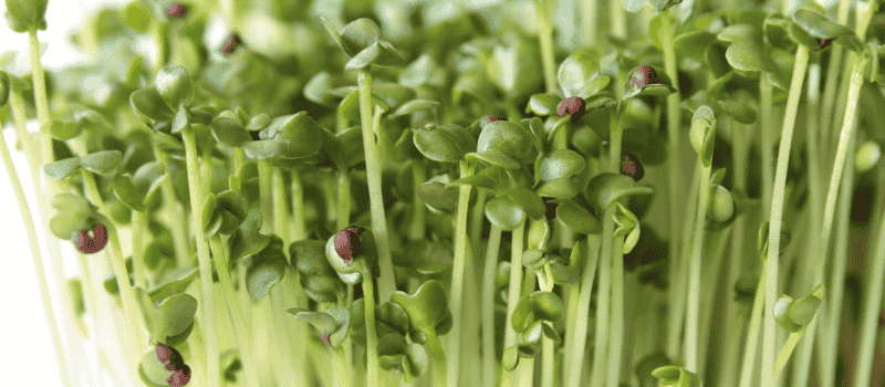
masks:
<svg viewBox="0 0 885 387"><path fill-rule="evenodd" d="M125 0L51 0L46 11L48 29L40 31L38 36L42 43L49 43L42 56L48 69L56 69L65 63L76 61L80 56L67 43L67 34L82 22L85 14L98 4L124 4ZM2 2L0 13L6 12L6 1ZM14 33L3 20L0 25L0 52L19 51L20 63L24 71L30 71L28 52L28 34ZM29 125L30 130L37 127ZM33 195L33 182L28 172L28 163L24 154L14 150L15 134L11 127L3 129L3 135L11 150L13 164L19 171L19 179L24 187L25 196L31 206L31 213L37 223L37 233L42 240L42 224L39 219L37 198ZM40 293L33 269L31 250L28 236L22 227L21 213L18 202L9 182L6 168L0 171L0 301L2 302L2 317L0 328L3 334L3 348L0 349L0 370L3 386L61 386L59 367L49 338L49 328L45 314L40 302ZM42 243L41 243L42 244ZM66 276L79 275L76 259L71 243L62 243L65 249L64 265ZM43 257L45 257L45 251ZM49 265L44 264L49 270ZM56 290L50 284L53 303L67 302L58 300ZM58 301L56 301L58 300ZM59 308L56 311L61 312ZM56 312L58 313L58 312ZM74 328L75 330L75 328ZM71 335L74 337L76 333ZM69 356L85 357L82 345L77 341L71 346ZM74 380L79 386L86 386L84 380ZM92 386L88 386L92 387Z"/></svg>

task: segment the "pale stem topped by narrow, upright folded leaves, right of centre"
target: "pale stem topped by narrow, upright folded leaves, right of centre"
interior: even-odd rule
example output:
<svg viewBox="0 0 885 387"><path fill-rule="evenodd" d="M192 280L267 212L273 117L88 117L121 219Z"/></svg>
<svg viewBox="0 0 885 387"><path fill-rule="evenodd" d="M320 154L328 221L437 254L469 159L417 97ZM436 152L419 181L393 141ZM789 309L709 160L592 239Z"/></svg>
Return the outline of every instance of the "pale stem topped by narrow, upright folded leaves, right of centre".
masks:
<svg viewBox="0 0 885 387"><path fill-rule="evenodd" d="M700 165L698 178L698 208L695 218L695 237L691 243L691 261L688 276L688 310L685 324L685 358L686 369L695 374L698 370L698 317L700 306L700 252L704 248L704 222L707 219L707 201L710 196L711 166Z"/></svg>

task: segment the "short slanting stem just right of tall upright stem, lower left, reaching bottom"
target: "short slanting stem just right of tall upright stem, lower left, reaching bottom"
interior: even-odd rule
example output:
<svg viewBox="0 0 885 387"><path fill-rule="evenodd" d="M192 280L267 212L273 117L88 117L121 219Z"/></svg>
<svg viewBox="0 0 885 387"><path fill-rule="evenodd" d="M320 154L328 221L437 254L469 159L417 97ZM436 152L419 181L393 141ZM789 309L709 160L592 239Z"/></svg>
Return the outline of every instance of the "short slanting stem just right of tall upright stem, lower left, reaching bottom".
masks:
<svg viewBox="0 0 885 387"><path fill-rule="evenodd" d="M228 249L222 244L219 236L214 236L209 240L209 248L212 255L218 260L216 270L218 270L218 282L221 283L221 291L225 294L225 307L228 311L233 331L240 345L240 356L244 364L243 374L249 383L249 386L259 386L258 381L258 367L254 365L254 343L252 343L252 332L246 323L246 316L242 308L239 307L240 302L237 300L237 292L233 290L233 282L230 281L230 257Z"/></svg>

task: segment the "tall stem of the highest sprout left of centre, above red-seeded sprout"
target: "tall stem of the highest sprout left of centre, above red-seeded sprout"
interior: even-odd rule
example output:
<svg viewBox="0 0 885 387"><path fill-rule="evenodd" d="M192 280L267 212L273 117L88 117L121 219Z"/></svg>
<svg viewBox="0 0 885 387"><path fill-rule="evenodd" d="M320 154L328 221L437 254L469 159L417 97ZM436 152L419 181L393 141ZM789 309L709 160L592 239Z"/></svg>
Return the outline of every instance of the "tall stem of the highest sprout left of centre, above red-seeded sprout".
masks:
<svg viewBox="0 0 885 387"><path fill-rule="evenodd" d="M363 148L366 158L366 178L368 179L368 200L372 211L372 231L378 244L378 301L385 303L396 291L394 264L391 258L391 241L387 234L387 218L384 215L384 199L381 191L381 164L378 161L375 130L372 119L372 74L368 70L357 73L360 85L360 116L363 124Z"/></svg>

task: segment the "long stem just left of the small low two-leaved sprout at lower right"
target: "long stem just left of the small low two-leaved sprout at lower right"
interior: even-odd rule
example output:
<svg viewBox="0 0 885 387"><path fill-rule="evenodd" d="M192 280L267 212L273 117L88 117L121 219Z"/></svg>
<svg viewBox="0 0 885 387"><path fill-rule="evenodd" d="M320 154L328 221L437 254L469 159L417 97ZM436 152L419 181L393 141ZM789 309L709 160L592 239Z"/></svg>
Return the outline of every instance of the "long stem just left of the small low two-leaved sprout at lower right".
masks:
<svg viewBox="0 0 885 387"><path fill-rule="evenodd" d="M793 77L790 83L790 95L787 100L787 113L783 119L781 132L781 144L778 150L778 169L774 175L774 189L771 198L771 220L769 227L768 242L768 272L766 284L766 311L774 310L774 302L778 301L778 253L781 243L781 222L783 217L783 194L787 182L787 164L790 158L790 146L793 139L793 127L795 115L799 107L799 97L802 92L802 83L805 77L805 69L809 63L809 48L799 45L795 55L795 66ZM762 346L762 386L774 387L774 347L775 343L774 318L766 318L764 342Z"/></svg>

